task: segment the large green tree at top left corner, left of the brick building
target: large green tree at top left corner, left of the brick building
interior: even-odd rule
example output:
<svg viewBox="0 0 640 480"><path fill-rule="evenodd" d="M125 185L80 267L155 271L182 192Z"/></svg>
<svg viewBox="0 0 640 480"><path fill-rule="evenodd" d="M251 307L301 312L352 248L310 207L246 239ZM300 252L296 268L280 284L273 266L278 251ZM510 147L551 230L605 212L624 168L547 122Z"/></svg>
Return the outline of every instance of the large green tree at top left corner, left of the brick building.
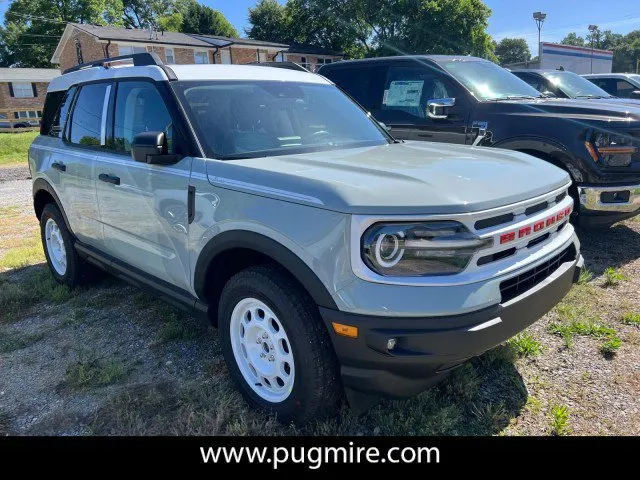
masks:
<svg viewBox="0 0 640 480"><path fill-rule="evenodd" d="M0 27L0 66L51 67L65 22L122 26L122 0L14 0Z"/></svg>

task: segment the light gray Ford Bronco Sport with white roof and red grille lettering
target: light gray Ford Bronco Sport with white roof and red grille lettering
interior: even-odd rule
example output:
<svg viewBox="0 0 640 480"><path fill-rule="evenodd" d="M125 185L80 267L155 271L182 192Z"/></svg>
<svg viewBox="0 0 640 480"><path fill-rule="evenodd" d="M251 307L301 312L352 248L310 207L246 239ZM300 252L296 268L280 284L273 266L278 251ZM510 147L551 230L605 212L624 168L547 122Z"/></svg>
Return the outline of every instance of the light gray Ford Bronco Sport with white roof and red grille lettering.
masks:
<svg viewBox="0 0 640 480"><path fill-rule="evenodd" d="M306 422L425 389L576 280L568 175L523 153L398 142L325 78L74 67L29 150L53 276L98 266L208 316L250 404Z"/></svg>

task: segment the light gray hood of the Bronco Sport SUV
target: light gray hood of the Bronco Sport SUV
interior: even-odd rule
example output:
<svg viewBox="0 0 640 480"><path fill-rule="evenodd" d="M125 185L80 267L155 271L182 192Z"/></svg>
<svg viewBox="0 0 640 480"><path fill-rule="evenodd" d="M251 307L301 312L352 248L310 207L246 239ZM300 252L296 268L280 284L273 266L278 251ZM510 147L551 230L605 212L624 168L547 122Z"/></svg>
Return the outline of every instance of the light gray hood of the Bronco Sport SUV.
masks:
<svg viewBox="0 0 640 480"><path fill-rule="evenodd" d="M213 185L354 214L465 213L567 186L569 175L511 150L406 142L208 161Z"/></svg>

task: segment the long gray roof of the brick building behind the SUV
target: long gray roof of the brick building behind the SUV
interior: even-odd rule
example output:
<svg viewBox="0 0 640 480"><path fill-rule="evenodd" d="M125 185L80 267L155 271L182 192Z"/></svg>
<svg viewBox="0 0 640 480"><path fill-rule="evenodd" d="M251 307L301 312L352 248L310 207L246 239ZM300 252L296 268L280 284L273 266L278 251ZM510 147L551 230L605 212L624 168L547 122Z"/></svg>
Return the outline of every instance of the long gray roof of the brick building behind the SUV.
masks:
<svg viewBox="0 0 640 480"><path fill-rule="evenodd" d="M287 45L286 43L265 42L263 40L253 40L251 38L231 38L221 37L218 35L202 35L197 33L180 33L180 32L162 32L154 31L149 36L149 30L131 29L117 27L101 27L99 25L90 25L87 23L68 23L62 38L58 42L56 51L51 57L51 63L60 63L60 54L66 42L72 38L75 30L82 31L94 36L98 40L112 42L139 42L145 44L161 44L161 45L177 45L186 47L200 48L221 48L230 45L239 45L256 48L269 48L285 50L291 53L308 53L318 55L342 55L340 53L331 52L317 47L306 47L302 45Z"/></svg>

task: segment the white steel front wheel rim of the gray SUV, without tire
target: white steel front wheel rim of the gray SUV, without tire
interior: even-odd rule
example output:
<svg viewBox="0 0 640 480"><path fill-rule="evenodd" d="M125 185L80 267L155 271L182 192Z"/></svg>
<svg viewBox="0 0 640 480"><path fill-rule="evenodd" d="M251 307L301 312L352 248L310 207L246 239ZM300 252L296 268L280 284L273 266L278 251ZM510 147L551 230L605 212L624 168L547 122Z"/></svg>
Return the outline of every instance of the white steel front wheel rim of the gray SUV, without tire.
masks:
<svg viewBox="0 0 640 480"><path fill-rule="evenodd" d="M286 400L293 390L295 363L276 314L260 300L242 299L231 313L229 337L236 364L251 389L270 403Z"/></svg>

